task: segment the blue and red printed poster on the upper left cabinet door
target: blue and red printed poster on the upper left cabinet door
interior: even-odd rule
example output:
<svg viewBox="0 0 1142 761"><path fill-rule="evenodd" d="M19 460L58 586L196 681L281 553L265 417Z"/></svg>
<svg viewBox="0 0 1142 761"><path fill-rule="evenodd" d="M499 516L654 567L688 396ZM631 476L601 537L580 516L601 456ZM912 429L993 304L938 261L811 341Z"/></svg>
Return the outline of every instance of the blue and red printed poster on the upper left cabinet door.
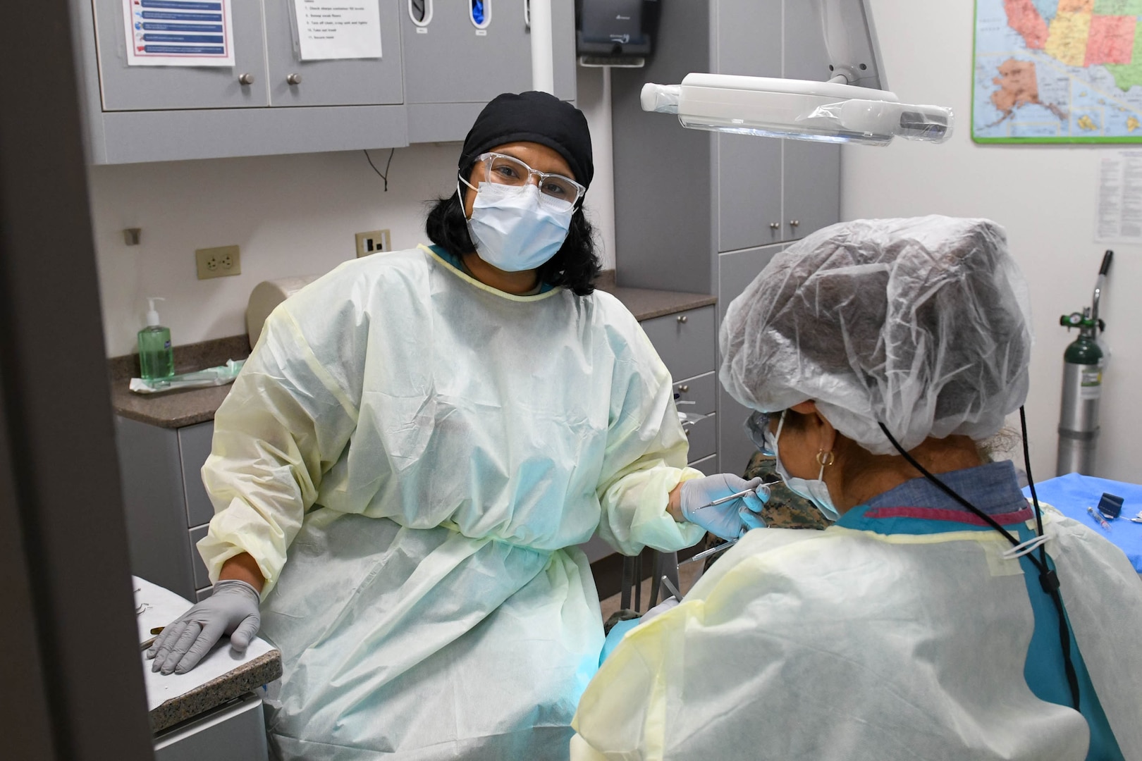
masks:
<svg viewBox="0 0 1142 761"><path fill-rule="evenodd" d="M123 0L128 66L233 66L231 0Z"/></svg>

